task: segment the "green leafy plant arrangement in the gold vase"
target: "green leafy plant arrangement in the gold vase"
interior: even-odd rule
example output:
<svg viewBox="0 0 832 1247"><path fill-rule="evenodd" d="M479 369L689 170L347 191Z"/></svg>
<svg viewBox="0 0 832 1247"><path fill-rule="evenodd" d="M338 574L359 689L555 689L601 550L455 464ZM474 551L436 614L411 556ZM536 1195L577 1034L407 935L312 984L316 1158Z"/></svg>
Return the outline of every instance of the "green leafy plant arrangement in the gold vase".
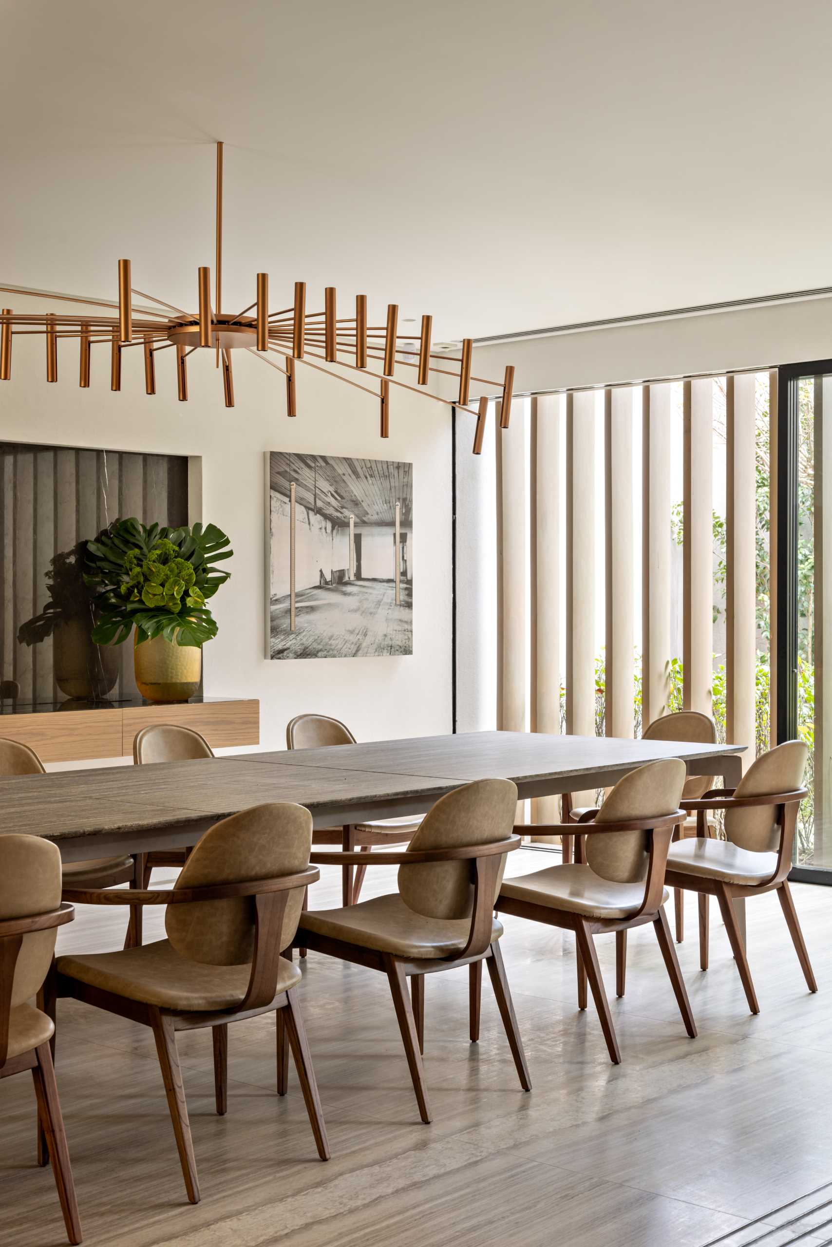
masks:
<svg viewBox="0 0 832 1247"><path fill-rule="evenodd" d="M230 572L230 539L215 524L168 529L136 519L114 520L87 541L84 582L96 609L92 640L121 645L133 627L136 645L162 636L180 646L202 646L217 635L206 606Z"/></svg>

